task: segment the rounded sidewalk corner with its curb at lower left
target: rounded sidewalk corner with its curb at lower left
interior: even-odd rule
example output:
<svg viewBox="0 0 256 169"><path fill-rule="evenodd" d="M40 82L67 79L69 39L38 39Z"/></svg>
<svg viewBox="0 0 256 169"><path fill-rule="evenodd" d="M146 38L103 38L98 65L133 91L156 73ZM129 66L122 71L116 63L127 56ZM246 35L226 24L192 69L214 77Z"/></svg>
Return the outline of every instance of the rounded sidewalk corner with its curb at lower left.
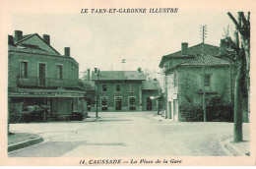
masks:
<svg viewBox="0 0 256 169"><path fill-rule="evenodd" d="M8 152L31 146L42 142L43 139L39 135L28 133L15 133L8 136Z"/></svg>

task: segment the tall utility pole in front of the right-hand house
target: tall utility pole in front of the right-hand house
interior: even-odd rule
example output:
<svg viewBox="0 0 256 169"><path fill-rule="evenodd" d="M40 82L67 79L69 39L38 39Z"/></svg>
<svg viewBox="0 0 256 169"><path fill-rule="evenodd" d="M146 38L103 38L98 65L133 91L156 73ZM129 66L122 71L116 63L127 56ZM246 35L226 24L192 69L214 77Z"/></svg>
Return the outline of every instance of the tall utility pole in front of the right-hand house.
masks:
<svg viewBox="0 0 256 169"><path fill-rule="evenodd" d="M205 38L207 37L207 26L200 27L200 35L203 40L202 42L202 58L203 58L203 69L202 69L202 81L203 81L203 110L204 110L204 122L207 121L207 113L206 113L206 90L205 90L205 56L204 56L204 44Z"/></svg>

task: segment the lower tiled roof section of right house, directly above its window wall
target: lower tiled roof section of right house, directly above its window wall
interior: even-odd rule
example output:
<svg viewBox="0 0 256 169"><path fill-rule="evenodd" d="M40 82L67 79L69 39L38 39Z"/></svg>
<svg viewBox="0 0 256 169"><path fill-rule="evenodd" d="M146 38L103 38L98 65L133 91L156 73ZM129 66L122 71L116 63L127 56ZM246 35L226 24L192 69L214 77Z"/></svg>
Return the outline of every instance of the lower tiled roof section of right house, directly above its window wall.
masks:
<svg viewBox="0 0 256 169"><path fill-rule="evenodd" d="M204 58L202 56L192 59L186 63L182 63L179 66L224 66L229 65L229 62L211 55L205 55Z"/></svg>

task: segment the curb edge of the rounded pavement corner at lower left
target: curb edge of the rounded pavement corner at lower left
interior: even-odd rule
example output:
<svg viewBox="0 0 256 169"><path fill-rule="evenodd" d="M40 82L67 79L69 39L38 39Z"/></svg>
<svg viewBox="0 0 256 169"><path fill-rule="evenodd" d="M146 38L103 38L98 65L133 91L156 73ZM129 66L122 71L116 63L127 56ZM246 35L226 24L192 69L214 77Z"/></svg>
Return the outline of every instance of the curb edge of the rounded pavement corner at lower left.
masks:
<svg viewBox="0 0 256 169"><path fill-rule="evenodd" d="M8 150L7 151L11 152L11 151L14 151L14 150L17 150L17 149L21 149L21 148L24 148L24 147L28 147L28 146L40 143L42 141L43 141L43 139L41 137L38 137L38 138L29 140L29 141L22 141L22 142L19 142L19 143L11 144L11 145L8 145Z"/></svg>

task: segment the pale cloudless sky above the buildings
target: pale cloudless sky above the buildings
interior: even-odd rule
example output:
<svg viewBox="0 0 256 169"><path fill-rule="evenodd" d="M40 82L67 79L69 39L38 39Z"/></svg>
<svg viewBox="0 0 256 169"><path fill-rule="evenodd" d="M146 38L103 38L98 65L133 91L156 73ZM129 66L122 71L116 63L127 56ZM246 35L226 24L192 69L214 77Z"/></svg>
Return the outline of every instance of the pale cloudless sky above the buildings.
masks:
<svg viewBox="0 0 256 169"><path fill-rule="evenodd" d="M13 14L14 30L24 34L49 34L51 45L61 54L71 47L71 56L80 64L80 72L101 71L160 72L163 55L181 49L182 42L193 46L202 42L200 26L207 25L205 42L220 45L224 28L234 27L226 11L179 11L177 14ZM126 63L121 63L126 59ZM123 68L124 66L124 68Z"/></svg>

